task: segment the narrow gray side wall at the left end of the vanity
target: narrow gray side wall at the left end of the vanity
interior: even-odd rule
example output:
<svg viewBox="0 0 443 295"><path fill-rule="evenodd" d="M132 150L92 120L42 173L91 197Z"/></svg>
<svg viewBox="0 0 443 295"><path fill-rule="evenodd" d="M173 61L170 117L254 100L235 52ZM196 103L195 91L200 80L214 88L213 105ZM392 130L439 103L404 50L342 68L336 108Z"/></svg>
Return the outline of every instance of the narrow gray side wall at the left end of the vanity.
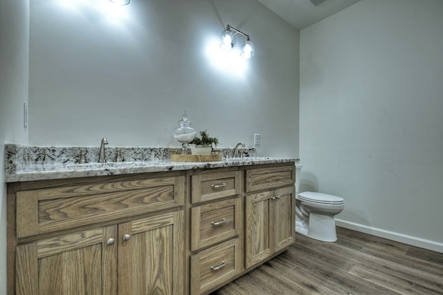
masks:
<svg viewBox="0 0 443 295"><path fill-rule="evenodd" d="M6 185L4 143L28 143L29 1L0 0L0 294L6 294Z"/></svg>

